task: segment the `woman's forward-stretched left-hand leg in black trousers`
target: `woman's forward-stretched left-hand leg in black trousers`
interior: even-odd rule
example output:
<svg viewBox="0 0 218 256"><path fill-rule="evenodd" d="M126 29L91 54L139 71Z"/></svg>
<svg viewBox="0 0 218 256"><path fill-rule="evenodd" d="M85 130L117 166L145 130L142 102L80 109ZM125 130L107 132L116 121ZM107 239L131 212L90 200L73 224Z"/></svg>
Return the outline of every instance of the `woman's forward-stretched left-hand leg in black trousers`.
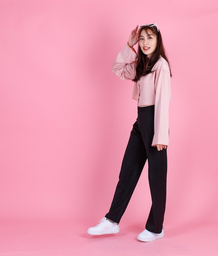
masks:
<svg viewBox="0 0 218 256"><path fill-rule="evenodd" d="M130 201L132 193L137 185L147 155L145 146L139 131L138 122L133 125L130 139L123 157L119 182L115 191L115 195L106 218L117 223L120 222L123 213Z"/></svg>

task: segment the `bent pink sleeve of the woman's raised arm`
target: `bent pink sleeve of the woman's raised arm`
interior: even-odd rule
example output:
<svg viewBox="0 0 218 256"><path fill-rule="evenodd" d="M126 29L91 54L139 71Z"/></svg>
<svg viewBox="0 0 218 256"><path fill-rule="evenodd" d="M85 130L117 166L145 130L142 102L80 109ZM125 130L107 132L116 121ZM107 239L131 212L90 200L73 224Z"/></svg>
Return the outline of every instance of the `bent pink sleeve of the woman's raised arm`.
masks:
<svg viewBox="0 0 218 256"><path fill-rule="evenodd" d="M120 78L132 80L135 77L135 62L137 54L126 45L117 55L113 65L112 71Z"/></svg>

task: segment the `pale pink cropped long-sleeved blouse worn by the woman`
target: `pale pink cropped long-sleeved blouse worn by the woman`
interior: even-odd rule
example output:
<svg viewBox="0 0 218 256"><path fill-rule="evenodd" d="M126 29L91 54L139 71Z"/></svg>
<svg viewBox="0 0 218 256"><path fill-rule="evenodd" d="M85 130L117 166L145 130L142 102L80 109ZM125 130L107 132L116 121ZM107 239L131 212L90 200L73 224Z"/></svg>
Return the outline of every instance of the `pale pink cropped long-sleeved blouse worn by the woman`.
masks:
<svg viewBox="0 0 218 256"><path fill-rule="evenodd" d="M121 79L134 79L137 54L126 45L115 59L112 71ZM169 144L169 101L171 100L170 68L160 56L152 73L142 76L134 83L132 98L138 106L155 105L154 137L152 146Z"/></svg>

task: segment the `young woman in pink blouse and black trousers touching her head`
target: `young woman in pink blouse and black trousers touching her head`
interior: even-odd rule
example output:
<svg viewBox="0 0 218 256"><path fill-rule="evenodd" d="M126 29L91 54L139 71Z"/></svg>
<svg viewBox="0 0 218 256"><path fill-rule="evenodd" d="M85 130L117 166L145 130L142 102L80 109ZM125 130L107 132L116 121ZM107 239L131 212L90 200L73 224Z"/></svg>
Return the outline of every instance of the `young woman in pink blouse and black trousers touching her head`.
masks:
<svg viewBox="0 0 218 256"><path fill-rule="evenodd" d="M138 54L133 48L137 42ZM156 24L143 25L139 30L137 26L131 31L128 43L115 59L112 70L119 78L134 81L133 99L138 101L138 117L130 133L110 211L87 232L91 235L119 232L119 222L148 159L152 207L145 230L137 238L150 242L164 236L171 100L171 71Z"/></svg>

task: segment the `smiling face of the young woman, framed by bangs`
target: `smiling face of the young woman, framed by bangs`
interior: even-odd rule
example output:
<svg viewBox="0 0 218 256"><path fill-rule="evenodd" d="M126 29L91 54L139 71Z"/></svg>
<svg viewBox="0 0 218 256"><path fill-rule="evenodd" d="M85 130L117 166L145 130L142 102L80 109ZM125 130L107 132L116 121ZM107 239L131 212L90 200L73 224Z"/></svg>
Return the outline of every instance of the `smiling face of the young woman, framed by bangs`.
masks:
<svg viewBox="0 0 218 256"><path fill-rule="evenodd" d="M150 58L157 46L156 35L154 35L150 29L143 29L139 36L139 46L143 54L147 55L148 58Z"/></svg>

